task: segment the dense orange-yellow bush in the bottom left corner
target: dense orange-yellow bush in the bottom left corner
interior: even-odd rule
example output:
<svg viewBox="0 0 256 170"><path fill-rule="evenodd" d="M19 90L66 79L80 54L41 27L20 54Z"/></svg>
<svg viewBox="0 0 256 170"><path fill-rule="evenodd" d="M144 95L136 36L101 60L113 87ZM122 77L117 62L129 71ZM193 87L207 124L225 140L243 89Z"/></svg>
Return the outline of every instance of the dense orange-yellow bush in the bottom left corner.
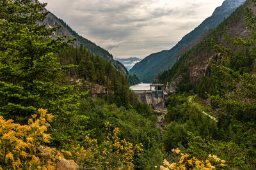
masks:
<svg viewBox="0 0 256 170"><path fill-rule="evenodd" d="M0 169L54 169L55 149L42 148L51 138L46 134L52 114L39 109L28 125L13 123L0 117Z"/></svg>

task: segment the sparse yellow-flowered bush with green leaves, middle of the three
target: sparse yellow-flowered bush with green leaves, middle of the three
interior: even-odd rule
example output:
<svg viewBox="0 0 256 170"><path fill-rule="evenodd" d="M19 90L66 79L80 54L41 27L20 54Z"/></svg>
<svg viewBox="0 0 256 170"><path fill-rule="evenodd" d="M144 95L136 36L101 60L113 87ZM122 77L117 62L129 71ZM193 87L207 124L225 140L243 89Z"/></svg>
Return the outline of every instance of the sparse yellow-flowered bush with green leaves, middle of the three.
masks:
<svg viewBox="0 0 256 170"><path fill-rule="evenodd" d="M125 139L120 139L119 129L116 127L110 131L109 124L106 123L109 131L106 140L98 143L97 139L86 136L84 146L72 146L72 158L81 167L97 167L99 169L133 169L133 159L135 155L140 155L142 145L133 146Z"/></svg>

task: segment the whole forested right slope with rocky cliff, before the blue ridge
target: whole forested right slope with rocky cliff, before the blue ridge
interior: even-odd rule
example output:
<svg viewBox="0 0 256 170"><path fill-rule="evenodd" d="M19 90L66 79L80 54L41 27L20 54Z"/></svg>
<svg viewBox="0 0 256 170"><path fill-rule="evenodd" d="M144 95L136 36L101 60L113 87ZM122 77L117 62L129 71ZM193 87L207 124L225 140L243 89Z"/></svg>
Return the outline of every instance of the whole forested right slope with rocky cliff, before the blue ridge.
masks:
<svg viewBox="0 0 256 170"><path fill-rule="evenodd" d="M256 168L255 4L246 1L159 74L159 81L176 89L165 115L165 148L184 146L201 160L220 162L216 169Z"/></svg>

